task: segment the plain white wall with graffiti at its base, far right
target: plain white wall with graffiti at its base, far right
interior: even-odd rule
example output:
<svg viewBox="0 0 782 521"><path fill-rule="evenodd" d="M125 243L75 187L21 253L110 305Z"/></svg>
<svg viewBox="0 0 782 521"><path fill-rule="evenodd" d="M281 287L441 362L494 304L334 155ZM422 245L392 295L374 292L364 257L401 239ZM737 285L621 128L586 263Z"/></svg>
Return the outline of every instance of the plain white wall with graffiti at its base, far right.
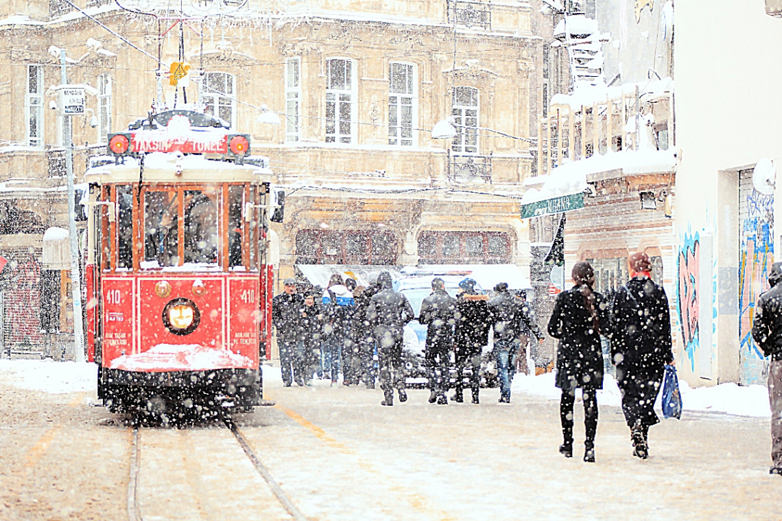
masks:
<svg viewBox="0 0 782 521"><path fill-rule="evenodd" d="M739 379L735 172L782 156L780 63L782 21L763 0L676 2L678 357L691 384Z"/></svg>

